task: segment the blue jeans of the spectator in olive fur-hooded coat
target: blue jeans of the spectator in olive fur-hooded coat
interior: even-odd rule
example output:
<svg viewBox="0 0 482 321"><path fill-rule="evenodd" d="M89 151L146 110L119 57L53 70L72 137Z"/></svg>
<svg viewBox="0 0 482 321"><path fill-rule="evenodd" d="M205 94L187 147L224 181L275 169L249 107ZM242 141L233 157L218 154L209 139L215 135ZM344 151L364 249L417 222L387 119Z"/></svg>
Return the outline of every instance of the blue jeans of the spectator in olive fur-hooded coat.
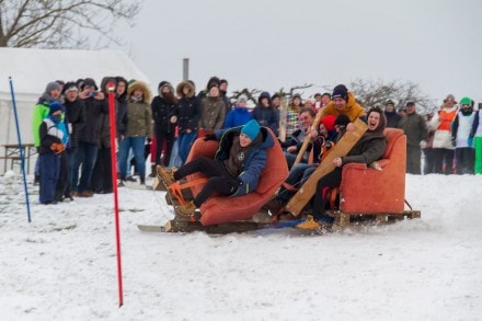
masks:
<svg viewBox="0 0 482 321"><path fill-rule="evenodd" d="M127 175L127 167L129 165L128 156L130 148L133 148L139 176L146 177L146 160L144 158L145 144L146 136L127 137L120 141L118 147L118 172L120 173L120 177L125 179Z"/></svg>

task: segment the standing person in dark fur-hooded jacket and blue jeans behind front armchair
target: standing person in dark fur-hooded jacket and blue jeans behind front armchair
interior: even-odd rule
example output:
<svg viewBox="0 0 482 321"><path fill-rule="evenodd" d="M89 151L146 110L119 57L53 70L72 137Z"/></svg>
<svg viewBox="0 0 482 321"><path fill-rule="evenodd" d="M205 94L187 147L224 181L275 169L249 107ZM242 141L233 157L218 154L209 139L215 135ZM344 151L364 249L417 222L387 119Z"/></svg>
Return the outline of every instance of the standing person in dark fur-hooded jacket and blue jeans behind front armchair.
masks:
<svg viewBox="0 0 482 321"><path fill-rule="evenodd" d="M182 163L185 163L190 154L191 146L197 136L197 125L203 113L200 100L195 95L196 90L192 82L182 81L176 88L180 98L174 110L177 121L177 149Z"/></svg>

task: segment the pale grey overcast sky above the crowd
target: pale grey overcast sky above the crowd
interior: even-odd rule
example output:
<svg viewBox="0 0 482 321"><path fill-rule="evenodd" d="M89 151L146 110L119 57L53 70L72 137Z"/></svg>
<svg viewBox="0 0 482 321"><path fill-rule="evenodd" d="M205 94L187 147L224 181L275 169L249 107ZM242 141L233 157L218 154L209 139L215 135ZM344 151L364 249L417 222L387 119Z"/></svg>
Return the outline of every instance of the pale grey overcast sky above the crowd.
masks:
<svg viewBox="0 0 482 321"><path fill-rule="evenodd" d="M182 60L203 89L210 76L229 90L274 92L313 83L324 91L356 79L420 84L482 101L480 0L146 0L123 49L150 78L174 85Z"/></svg>

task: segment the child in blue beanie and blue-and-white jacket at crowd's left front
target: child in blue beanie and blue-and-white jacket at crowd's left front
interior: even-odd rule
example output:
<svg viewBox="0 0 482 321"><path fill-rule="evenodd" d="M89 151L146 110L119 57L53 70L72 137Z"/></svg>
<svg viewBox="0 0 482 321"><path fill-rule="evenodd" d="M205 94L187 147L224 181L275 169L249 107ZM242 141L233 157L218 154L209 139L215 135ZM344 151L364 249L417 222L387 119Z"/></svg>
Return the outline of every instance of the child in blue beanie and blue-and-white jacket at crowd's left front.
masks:
<svg viewBox="0 0 482 321"><path fill-rule="evenodd" d="M60 103L50 103L48 115L38 128L41 139L38 148L41 158L39 202L42 204L57 203L55 193L60 171L60 154L69 141L69 133L62 121L64 111L65 108Z"/></svg>

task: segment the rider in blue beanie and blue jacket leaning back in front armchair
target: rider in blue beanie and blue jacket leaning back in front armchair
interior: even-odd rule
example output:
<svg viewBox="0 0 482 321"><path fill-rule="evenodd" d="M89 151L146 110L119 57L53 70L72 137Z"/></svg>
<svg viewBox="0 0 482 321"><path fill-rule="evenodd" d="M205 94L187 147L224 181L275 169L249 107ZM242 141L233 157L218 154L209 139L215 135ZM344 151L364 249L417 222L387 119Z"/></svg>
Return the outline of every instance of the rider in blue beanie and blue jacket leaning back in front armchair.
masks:
<svg viewBox="0 0 482 321"><path fill-rule="evenodd" d="M242 127L216 130L204 139L219 140L215 159L198 157L174 173L160 169L168 185L196 172L209 177L193 202L179 207L184 215L193 215L215 192L226 196L242 196L255 191L267 161L266 149L274 146L272 135L266 128L260 128L254 119Z"/></svg>

